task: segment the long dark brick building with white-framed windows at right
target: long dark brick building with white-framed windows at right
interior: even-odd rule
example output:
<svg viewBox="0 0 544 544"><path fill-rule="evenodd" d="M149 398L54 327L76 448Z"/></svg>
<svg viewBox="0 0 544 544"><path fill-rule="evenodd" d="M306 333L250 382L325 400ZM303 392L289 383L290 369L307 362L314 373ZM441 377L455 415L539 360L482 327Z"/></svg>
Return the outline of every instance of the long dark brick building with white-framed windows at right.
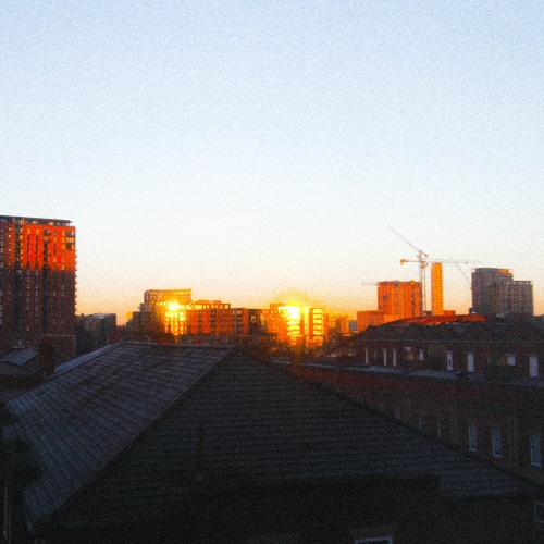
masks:
<svg viewBox="0 0 544 544"><path fill-rule="evenodd" d="M337 368L300 372L544 484L544 334L534 324L387 324L358 335L351 353Z"/></svg>

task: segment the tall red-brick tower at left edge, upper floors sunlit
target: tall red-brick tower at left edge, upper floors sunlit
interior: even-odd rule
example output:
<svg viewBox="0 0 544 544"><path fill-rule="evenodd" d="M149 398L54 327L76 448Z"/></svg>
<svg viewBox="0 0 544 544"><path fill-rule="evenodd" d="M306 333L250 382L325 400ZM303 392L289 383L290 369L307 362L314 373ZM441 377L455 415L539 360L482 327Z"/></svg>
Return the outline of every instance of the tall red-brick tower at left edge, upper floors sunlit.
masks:
<svg viewBox="0 0 544 544"><path fill-rule="evenodd" d="M75 355L75 227L0 215L0 349L48 344Z"/></svg>

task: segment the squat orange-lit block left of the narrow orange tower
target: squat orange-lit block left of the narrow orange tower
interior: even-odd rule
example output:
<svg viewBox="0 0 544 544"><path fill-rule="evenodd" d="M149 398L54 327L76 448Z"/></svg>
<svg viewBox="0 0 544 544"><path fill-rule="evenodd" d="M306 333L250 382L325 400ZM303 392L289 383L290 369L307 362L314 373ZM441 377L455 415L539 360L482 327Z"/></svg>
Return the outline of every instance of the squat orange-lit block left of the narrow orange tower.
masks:
<svg viewBox="0 0 544 544"><path fill-rule="evenodd" d="M379 282L378 309L397 319L418 317L421 312L421 283Z"/></svg>

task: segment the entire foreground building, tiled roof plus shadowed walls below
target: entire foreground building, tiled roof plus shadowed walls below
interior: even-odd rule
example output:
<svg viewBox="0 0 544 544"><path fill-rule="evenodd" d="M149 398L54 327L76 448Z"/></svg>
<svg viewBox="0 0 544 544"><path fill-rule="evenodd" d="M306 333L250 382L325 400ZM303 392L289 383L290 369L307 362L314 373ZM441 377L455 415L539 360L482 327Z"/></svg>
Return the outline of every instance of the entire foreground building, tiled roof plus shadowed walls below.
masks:
<svg viewBox="0 0 544 544"><path fill-rule="evenodd" d="M480 544L536 531L534 485L238 349L108 346L7 408L4 520L18 541Z"/></svg>

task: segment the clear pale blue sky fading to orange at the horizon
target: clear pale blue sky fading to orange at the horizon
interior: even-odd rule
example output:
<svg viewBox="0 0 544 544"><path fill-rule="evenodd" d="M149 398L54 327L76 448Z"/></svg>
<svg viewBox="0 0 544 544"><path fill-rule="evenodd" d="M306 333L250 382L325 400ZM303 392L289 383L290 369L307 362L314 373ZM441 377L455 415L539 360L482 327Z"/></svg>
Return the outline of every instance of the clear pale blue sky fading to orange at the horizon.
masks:
<svg viewBox="0 0 544 544"><path fill-rule="evenodd" d="M543 28L540 0L3 0L0 214L73 221L77 311L118 322L151 288L355 318L415 248L465 261L446 309L492 267L542 314Z"/></svg>

